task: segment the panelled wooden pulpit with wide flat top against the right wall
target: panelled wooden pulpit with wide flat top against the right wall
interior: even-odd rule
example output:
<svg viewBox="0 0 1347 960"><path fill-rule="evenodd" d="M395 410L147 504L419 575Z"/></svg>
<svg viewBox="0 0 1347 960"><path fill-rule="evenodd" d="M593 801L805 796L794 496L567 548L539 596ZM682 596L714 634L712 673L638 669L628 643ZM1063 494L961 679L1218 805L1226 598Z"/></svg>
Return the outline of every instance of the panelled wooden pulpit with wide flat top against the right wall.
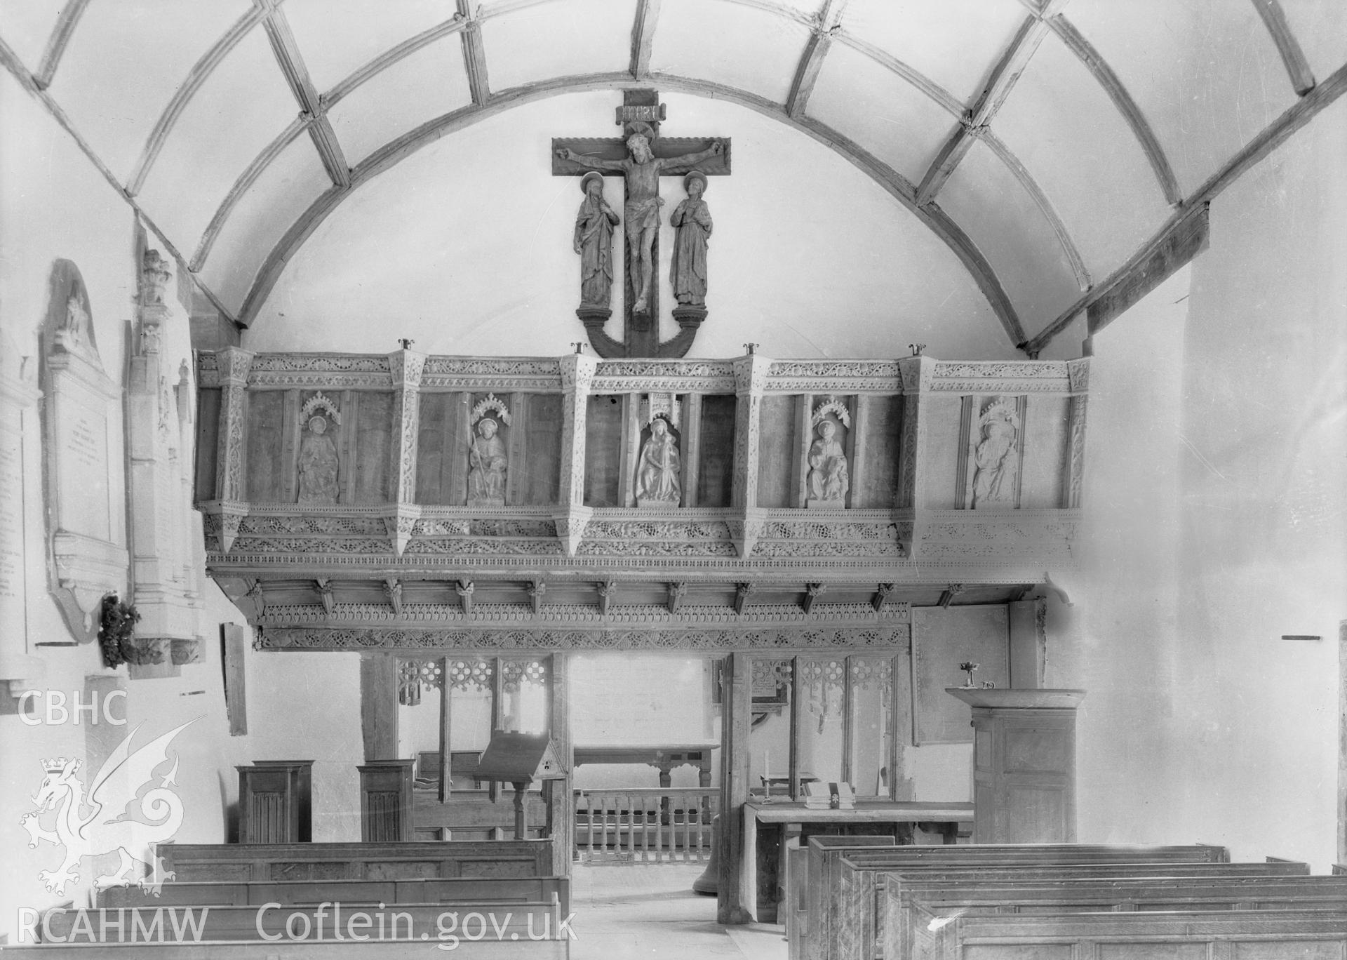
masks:
<svg viewBox="0 0 1347 960"><path fill-rule="evenodd" d="M946 688L973 708L974 843L1075 843L1084 690Z"/></svg>

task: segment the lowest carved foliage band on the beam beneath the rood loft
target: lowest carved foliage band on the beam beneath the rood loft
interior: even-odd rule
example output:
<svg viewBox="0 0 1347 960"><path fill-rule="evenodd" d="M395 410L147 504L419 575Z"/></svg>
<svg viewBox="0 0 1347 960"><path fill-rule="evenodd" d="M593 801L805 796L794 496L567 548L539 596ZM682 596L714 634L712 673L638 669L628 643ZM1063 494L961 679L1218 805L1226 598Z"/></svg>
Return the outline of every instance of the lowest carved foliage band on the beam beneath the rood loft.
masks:
<svg viewBox="0 0 1347 960"><path fill-rule="evenodd" d="M257 650L905 650L902 624L854 627L264 627Z"/></svg>

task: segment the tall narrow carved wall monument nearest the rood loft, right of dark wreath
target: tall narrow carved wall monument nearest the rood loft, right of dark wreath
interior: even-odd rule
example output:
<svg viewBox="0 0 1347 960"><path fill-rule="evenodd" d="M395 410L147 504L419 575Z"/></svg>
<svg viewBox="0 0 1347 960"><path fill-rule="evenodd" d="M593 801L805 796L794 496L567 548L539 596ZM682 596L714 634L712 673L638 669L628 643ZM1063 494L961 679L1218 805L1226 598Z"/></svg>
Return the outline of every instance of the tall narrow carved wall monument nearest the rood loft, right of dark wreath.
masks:
<svg viewBox="0 0 1347 960"><path fill-rule="evenodd" d="M147 249L127 380L127 479L131 502L132 597L140 613L133 676L160 676L199 658L203 601L191 508L191 378L186 357L167 353L168 328L186 313L164 295L168 262ZM145 673L160 665L159 673Z"/></svg>

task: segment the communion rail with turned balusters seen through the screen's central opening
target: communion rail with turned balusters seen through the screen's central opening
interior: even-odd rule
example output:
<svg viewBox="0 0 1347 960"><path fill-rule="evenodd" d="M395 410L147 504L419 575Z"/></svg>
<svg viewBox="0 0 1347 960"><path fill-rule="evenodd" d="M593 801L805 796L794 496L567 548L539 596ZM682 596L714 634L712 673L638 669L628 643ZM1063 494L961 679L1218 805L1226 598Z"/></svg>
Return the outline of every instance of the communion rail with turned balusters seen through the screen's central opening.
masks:
<svg viewBox="0 0 1347 960"><path fill-rule="evenodd" d="M581 863L674 863L711 858L711 787L575 791L575 855Z"/></svg>

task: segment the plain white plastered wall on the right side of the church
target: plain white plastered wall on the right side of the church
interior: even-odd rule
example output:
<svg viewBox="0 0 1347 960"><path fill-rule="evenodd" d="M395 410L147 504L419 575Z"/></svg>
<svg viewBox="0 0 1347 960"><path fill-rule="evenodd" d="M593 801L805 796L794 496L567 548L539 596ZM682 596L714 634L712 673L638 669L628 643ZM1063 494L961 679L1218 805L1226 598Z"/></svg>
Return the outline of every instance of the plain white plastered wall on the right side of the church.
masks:
<svg viewBox="0 0 1347 960"><path fill-rule="evenodd" d="M1086 565L1049 619L1049 682L1091 690L1082 840L1334 859L1344 154L1339 102L1212 205L1187 301L1095 337Z"/></svg>

